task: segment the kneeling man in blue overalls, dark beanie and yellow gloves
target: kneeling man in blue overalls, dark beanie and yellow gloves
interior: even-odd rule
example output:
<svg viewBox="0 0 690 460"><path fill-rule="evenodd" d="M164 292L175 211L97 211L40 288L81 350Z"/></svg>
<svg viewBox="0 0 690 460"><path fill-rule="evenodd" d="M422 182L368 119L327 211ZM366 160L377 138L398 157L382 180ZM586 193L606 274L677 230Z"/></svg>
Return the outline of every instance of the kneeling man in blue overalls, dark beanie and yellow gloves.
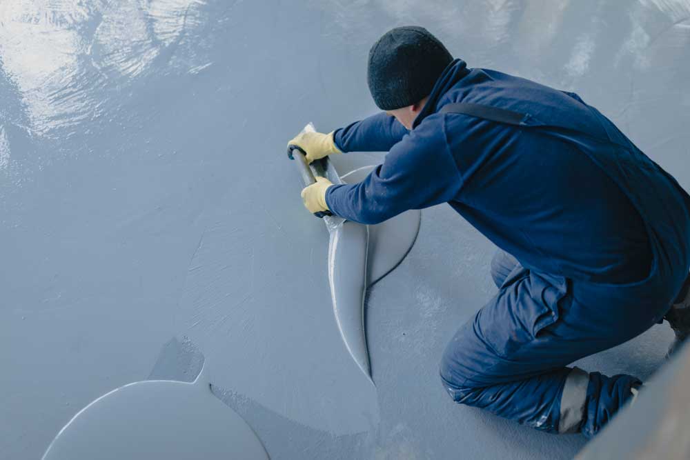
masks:
<svg viewBox="0 0 690 460"><path fill-rule="evenodd" d="M567 366L664 317L690 332L690 196L577 94L468 68L424 28L386 32L367 72L384 112L288 145L388 154L360 183L317 178L306 208L375 224L449 203L498 246L498 292L446 347L444 388L592 437L642 382Z"/></svg>

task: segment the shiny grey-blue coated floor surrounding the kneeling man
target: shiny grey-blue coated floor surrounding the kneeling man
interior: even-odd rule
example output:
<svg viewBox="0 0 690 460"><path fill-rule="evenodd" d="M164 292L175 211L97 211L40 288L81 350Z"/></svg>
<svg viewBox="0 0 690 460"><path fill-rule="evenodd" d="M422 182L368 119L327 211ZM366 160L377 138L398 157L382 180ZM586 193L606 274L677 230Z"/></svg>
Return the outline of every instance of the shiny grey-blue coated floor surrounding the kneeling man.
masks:
<svg viewBox="0 0 690 460"><path fill-rule="evenodd" d="M446 341L495 289L493 246L447 206L366 298L371 386L285 143L373 113L368 48L415 23L471 67L578 92L689 189L689 18L685 0L4 0L0 456L40 457L188 336L273 459L573 457L581 437L440 385ZM670 339L655 326L578 366L646 379Z"/></svg>

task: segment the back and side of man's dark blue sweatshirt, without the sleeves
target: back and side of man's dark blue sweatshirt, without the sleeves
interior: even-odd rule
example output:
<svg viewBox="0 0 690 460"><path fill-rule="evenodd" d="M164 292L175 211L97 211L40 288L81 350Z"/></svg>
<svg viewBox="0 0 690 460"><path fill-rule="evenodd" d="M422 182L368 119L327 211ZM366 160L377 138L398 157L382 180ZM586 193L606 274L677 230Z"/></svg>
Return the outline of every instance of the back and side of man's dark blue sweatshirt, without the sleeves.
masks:
<svg viewBox="0 0 690 460"><path fill-rule="evenodd" d="M540 124L518 128L466 115L445 115L444 131L462 177L449 203L525 266L578 279L643 279L651 248L640 214L589 158L611 148L607 133L574 94L493 70L471 70L436 88L437 110L481 103L528 113ZM420 126L421 128L421 126ZM560 130L560 137L548 134Z"/></svg>

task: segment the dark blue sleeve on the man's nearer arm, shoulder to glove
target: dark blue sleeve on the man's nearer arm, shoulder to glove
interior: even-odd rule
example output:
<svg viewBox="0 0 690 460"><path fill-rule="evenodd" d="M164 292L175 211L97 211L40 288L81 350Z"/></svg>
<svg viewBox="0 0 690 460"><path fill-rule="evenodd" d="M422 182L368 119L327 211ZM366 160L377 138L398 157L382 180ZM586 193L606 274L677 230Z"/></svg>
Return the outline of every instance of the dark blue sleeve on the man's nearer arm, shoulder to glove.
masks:
<svg viewBox="0 0 690 460"><path fill-rule="evenodd" d="M329 187L328 209L348 220L373 224L453 199L462 179L440 127L441 117L428 117L395 144L364 181Z"/></svg>

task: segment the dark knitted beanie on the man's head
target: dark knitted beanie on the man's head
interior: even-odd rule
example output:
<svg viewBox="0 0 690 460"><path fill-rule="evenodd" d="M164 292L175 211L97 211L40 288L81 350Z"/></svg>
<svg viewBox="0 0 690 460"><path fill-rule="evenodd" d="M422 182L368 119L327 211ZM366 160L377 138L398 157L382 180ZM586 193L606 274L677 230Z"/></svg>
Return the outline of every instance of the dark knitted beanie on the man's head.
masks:
<svg viewBox="0 0 690 460"><path fill-rule="evenodd" d="M388 30L369 51L369 90L381 110L411 106L431 93L453 61L436 37L423 27Z"/></svg>

